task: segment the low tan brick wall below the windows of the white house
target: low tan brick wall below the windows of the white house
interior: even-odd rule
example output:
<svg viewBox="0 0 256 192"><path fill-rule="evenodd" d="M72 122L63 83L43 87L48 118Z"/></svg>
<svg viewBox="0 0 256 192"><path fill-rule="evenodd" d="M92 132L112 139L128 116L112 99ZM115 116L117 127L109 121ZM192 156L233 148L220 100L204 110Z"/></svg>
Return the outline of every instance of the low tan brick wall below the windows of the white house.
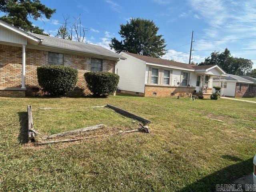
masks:
<svg viewBox="0 0 256 192"><path fill-rule="evenodd" d="M190 94L194 93L194 87L174 87L174 86L162 86L162 85L145 85L145 97L170 97L173 96L171 93L175 94L175 96L190 96ZM153 93L156 93L154 95ZM188 95L186 95L188 93Z"/></svg>

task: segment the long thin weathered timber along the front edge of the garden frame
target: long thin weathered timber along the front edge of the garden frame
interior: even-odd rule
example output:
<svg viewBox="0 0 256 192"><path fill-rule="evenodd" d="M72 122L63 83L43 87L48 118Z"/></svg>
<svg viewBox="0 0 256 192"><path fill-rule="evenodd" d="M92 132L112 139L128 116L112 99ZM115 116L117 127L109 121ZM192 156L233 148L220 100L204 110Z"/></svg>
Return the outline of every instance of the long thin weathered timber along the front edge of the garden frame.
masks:
<svg viewBox="0 0 256 192"><path fill-rule="evenodd" d="M114 134L109 134L109 135L98 135L98 136L83 137L83 138L77 138L77 139L64 139L64 140L40 142L40 143L37 143L37 145L47 145L47 144L54 144L54 143L73 142L73 141L80 141L80 140L99 138L99 137L107 137L107 136L120 135L120 134L126 134L126 133L138 132L138 131L141 131L141 129L128 130L128 131L123 131L123 132L120 132L120 133L114 133Z"/></svg>

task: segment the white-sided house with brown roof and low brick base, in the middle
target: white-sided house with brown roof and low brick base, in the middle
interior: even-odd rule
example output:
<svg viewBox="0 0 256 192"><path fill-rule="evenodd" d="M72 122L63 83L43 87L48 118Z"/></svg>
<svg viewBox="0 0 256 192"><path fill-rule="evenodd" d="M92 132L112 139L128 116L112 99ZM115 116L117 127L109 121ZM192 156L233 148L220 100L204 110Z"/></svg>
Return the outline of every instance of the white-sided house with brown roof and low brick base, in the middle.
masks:
<svg viewBox="0 0 256 192"><path fill-rule="evenodd" d="M160 58L120 52L118 91L145 97L190 96L210 98L213 77L224 76L218 65L194 66Z"/></svg>

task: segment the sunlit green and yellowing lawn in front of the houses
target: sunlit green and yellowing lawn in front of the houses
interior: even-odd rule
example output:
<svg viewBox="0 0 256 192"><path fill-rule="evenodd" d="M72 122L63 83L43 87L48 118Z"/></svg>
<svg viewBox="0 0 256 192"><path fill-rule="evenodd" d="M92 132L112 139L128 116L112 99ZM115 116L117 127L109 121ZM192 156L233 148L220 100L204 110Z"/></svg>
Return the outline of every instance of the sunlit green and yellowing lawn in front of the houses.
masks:
<svg viewBox="0 0 256 192"><path fill-rule="evenodd" d="M137 128L112 104L152 121L151 133L72 143L24 144L26 106L53 134L105 124L90 134ZM41 107L66 108L40 110ZM181 98L0 98L0 191L214 191L252 172L256 105Z"/></svg>

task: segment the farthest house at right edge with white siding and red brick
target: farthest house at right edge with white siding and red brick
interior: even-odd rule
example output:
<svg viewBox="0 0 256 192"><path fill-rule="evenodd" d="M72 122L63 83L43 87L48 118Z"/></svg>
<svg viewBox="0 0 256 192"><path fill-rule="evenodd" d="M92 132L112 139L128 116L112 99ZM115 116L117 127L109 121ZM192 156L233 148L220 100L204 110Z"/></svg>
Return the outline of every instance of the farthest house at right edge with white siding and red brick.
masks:
<svg viewBox="0 0 256 192"><path fill-rule="evenodd" d="M221 86L222 95L229 97L256 97L256 79L248 76L227 74L222 82L214 78L213 85Z"/></svg>

